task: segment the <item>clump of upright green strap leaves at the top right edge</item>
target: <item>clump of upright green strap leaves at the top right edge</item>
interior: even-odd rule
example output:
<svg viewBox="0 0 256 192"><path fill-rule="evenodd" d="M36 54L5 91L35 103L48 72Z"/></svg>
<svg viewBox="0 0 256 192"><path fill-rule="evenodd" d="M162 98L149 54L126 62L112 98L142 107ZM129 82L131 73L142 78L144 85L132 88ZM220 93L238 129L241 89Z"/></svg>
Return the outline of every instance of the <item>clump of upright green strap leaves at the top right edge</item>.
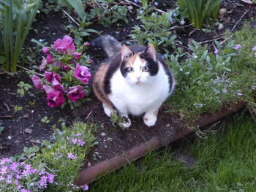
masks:
<svg viewBox="0 0 256 192"><path fill-rule="evenodd" d="M178 0L181 15L195 28L202 28L206 18L217 18L222 0Z"/></svg>

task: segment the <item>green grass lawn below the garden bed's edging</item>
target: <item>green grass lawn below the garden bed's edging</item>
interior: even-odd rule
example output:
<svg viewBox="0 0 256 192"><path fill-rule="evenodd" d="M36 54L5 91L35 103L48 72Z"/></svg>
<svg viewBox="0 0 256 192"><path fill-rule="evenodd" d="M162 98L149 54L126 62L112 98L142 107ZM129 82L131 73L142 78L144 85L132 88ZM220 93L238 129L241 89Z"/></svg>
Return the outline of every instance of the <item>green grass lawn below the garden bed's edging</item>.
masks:
<svg viewBox="0 0 256 192"><path fill-rule="evenodd" d="M140 162L110 173L90 185L90 191L255 191L256 128L244 115L225 127L222 137L196 139L187 153L193 168L173 161L173 153L152 152Z"/></svg>

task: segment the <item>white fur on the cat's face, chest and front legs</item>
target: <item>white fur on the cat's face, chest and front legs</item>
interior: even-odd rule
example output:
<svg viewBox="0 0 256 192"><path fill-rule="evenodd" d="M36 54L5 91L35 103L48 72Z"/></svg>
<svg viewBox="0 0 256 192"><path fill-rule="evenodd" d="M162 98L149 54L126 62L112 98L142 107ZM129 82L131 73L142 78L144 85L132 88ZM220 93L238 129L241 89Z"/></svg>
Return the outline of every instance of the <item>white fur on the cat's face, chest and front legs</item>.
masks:
<svg viewBox="0 0 256 192"><path fill-rule="evenodd" d="M122 76L120 69L113 74L111 93L108 96L122 116L128 118L128 114L137 116L145 113L144 123L154 126L159 107L170 95L169 80L162 64L159 64L157 75L151 76L141 70L145 64L140 61L139 58L135 60L135 70L129 72L126 78ZM124 126L130 126L128 124Z"/></svg>

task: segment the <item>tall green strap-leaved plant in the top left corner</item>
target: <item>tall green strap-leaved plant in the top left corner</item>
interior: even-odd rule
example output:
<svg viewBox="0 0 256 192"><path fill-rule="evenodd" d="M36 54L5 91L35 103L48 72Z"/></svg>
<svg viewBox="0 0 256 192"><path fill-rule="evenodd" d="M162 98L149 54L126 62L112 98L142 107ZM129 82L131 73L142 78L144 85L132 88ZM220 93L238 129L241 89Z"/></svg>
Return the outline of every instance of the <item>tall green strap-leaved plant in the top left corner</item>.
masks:
<svg viewBox="0 0 256 192"><path fill-rule="evenodd" d="M40 0L0 0L0 65L16 72L18 58Z"/></svg>

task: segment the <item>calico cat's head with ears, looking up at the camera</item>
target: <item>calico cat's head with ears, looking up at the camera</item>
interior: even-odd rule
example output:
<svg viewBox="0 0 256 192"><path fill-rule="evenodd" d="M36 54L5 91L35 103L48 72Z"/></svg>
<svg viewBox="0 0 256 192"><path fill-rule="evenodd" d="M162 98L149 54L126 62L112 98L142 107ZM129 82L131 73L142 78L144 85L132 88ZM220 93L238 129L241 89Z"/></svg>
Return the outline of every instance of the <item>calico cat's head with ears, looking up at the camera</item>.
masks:
<svg viewBox="0 0 256 192"><path fill-rule="evenodd" d="M145 85L154 81L159 70L156 50L148 45L141 53L132 53L126 45L121 47L121 74L130 85Z"/></svg>

